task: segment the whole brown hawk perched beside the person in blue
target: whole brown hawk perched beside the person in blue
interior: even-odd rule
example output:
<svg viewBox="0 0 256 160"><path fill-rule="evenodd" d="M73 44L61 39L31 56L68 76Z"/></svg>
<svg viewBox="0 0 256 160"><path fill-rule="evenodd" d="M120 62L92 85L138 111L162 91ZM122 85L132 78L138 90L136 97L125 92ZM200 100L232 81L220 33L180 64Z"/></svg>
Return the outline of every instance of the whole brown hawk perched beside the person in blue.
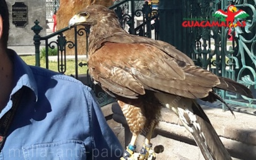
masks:
<svg viewBox="0 0 256 160"><path fill-rule="evenodd" d="M214 88L253 98L249 88L196 67L187 55L166 42L128 34L107 7L92 5L78 11L69 27L79 24L90 26L90 76L117 99L133 133L121 159L136 159L135 142L141 131L148 133L139 159L154 156L149 152L150 139L162 106L176 113L205 159L231 159L196 98L224 102Z"/></svg>

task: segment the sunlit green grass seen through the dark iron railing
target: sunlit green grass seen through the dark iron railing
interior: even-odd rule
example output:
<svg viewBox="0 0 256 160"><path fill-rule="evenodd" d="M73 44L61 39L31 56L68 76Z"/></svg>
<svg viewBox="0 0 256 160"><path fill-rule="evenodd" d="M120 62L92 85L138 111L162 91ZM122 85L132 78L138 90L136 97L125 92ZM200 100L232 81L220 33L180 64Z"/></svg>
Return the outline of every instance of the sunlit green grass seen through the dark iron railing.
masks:
<svg viewBox="0 0 256 160"><path fill-rule="evenodd" d="M36 65L36 58L35 55L27 55L21 56L26 64L28 65ZM78 64L80 62L85 63L84 61L78 60ZM45 59L40 59L40 67L45 68ZM65 75L75 75L75 60L67 60L67 70ZM54 70L55 72L58 71L58 62L49 62L49 70ZM78 74L86 74L87 73L87 66L80 67L78 66Z"/></svg>

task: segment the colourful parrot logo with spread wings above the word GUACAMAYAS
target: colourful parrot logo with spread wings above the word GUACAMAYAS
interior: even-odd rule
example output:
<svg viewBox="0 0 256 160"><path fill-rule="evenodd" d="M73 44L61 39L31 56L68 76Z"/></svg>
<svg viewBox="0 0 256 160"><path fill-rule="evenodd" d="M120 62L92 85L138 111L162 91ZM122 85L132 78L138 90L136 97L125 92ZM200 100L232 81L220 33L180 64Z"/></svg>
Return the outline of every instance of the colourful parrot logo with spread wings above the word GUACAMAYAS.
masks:
<svg viewBox="0 0 256 160"><path fill-rule="evenodd" d="M227 12L224 12L223 10L219 9L216 11L212 16L220 18L220 21L227 21L227 24L229 24L229 27L236 27L237 24L233 24L234 20L237 18L246 18L249 17L249 14L247 14L243 10L237 11L237 7L234 5L230 5L227 7Z"/></svg>

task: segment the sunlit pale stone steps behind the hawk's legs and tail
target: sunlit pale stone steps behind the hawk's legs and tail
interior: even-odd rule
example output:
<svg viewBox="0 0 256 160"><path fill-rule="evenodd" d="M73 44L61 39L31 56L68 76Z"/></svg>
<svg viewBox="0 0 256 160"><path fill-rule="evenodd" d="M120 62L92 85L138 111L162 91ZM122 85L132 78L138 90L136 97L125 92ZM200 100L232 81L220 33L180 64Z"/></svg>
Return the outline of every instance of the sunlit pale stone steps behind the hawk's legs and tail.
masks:
<svg viewBox="0 0 256 160"><path fill-rule="evenodd" d="M220 108L208 107L217 105L201 103L201 106L234 160L256 159L255 116L235 113L234 118L229 111L223 112ZM112 113L111 105L103 106L102 110L105 116ZM156 128L156 134L154 134L156 137L153 136L154 138L151 141L155 148L163 145L164 151L157 155L158 159L203 160L201 151L193 143L191 134L183 127L177 116L167 108L163 108L161 114L161 121ZM125 148L123 126L114 120L108 120L108 125L113 129ZM141 148L144 139L143 136L138 137L136 144L138 150Z"/></svg>

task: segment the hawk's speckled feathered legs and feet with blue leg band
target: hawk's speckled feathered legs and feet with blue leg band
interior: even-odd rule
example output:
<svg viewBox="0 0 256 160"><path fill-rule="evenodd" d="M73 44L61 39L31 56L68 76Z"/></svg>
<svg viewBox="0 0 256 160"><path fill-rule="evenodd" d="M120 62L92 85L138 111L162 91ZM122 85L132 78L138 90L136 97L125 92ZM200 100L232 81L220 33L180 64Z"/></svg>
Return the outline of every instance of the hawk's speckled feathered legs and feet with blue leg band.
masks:
<svg viewBox="0 0 256 160"><path fill-rule="evenodd" d="M118 104L123 111L131 133L133 133L131 142L126 148L125 155L121 159L132 159L133 156L135 156L135 141L140 133L146 134L145 154L140 153L140 155L136 155L139 156L138 160L148 159L149 156L152 157L151 159L154 159L155 154L151 148L152 144L150 143L150 139L154 128L159 122L161 103L159 103L152 92L140 96L138 99L123 97L118 97L118 99ZM151 111L153 111L153 113L151 113Z"/></svg>

